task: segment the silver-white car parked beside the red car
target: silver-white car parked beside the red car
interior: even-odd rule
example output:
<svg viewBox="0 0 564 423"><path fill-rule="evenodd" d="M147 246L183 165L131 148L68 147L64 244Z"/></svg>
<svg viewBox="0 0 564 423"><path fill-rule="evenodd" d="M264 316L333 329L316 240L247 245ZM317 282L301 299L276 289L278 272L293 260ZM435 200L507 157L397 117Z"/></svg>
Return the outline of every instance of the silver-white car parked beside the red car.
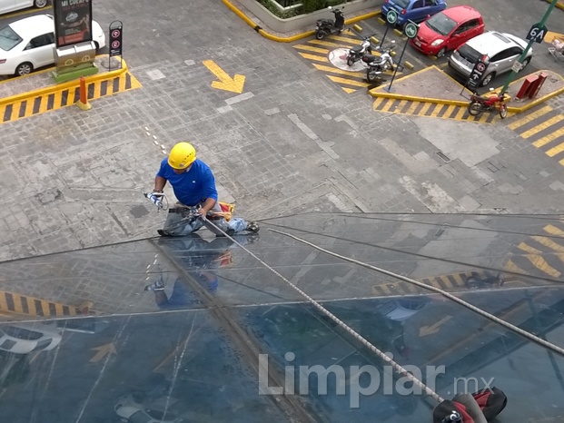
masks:
<svg viewBox="0 0 564 423"><path fill-rule="evenodd" d="M449 58L449 66L455 73L466 78L478 62L480 57L487 55L490 64L480 85L490 84L494 76L509 72L519 56L527 47L527 42L511 34L489 31L470 39L466 44L460 45ZM522 68L527 66L532 56L532 49L527 52ZM521 68L521 69L522 69Z"/></svg>

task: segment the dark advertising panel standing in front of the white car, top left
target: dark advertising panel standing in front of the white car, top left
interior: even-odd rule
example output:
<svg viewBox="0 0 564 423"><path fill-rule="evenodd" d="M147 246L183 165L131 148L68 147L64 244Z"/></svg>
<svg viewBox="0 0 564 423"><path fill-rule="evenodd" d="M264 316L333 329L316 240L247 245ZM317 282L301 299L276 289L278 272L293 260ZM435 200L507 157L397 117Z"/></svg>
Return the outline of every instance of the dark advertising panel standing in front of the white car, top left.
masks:
<svg viewBox="0 0 564 423"><path fill-rule="evenodd" d="M54 0L57 48L92 41L92 0Z"/></svg>

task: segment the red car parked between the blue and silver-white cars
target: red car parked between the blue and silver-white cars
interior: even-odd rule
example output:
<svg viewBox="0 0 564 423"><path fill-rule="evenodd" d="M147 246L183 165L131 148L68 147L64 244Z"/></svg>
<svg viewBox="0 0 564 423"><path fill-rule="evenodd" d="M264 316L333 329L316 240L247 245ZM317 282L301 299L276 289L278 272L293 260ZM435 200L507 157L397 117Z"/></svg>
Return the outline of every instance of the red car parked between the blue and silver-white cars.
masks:
<svg viewBox="0 0 564 423"><path fill-rule="evenodd" d="M447 50L454 50L484 29L480 12L469 5L457 5L430 16L410 43L424 54L442 57Z"/></svg>

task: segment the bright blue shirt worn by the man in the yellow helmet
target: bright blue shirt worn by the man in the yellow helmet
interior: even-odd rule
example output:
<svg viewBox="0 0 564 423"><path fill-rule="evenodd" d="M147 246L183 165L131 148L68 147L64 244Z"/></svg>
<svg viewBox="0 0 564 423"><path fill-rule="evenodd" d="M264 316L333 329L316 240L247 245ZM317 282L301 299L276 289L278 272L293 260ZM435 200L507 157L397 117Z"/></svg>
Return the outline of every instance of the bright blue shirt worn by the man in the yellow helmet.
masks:
<svg viewBox="0 0 564 423"><path fill-rule="evenodd" d="M168 159L163 159L161 169L156 175L170 182L178 201L187 206L195 206L208 198L213 198L217 202L217 189L212 170L201 160L196 159L188 172L177 174L168 164Z"/></svg>

